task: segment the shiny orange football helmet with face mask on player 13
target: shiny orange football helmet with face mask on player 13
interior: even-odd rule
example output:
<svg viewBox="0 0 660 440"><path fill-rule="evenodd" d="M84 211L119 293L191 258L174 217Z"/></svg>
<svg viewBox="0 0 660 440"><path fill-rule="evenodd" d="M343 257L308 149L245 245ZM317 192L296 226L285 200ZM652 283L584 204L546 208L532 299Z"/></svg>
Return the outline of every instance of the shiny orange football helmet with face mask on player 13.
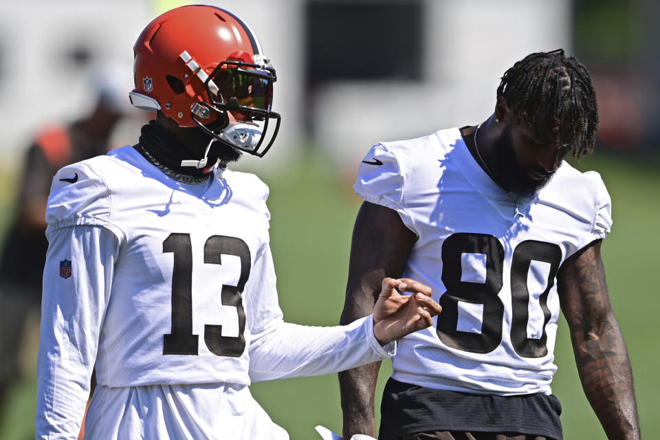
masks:
<svg viewBox="0 0 660 440"><path fill-rule="evenodd" d="M259 157L270 149L281 122L271 111L275 69L239 17L210 5L181 6L151 21L134 52L135 107L162 111L181 127L199 126Z"/></svg>

